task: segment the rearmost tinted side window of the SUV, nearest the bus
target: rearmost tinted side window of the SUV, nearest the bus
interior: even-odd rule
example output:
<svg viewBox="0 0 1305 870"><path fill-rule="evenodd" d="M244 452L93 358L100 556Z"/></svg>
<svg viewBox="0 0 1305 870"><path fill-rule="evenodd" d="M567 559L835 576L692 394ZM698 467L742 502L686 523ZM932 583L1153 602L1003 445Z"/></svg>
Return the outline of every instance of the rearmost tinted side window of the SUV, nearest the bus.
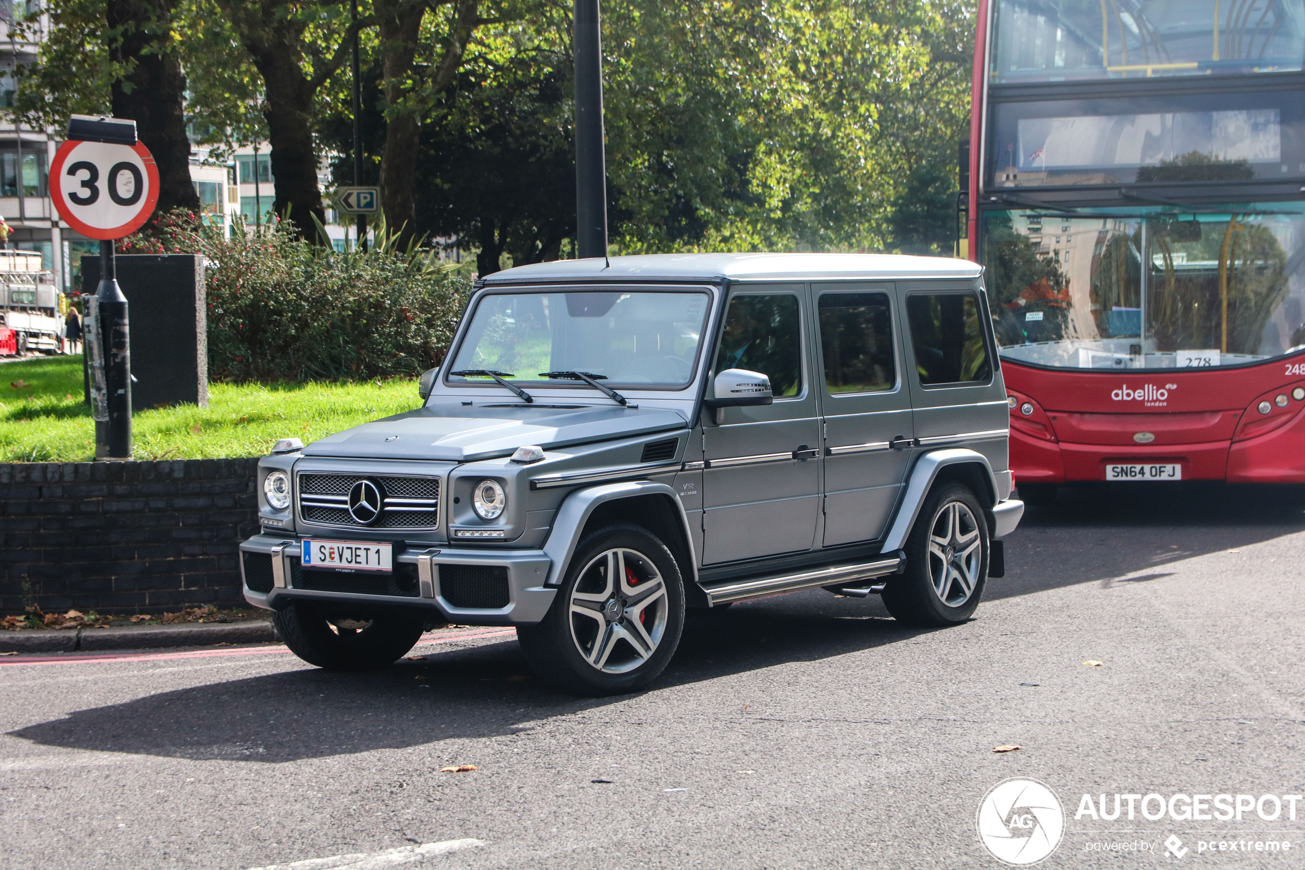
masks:
<svg viewBox="0 0 1305 870"><path fill-rule="evenodd" d="M972 383L992 378L974 293L912 293L906 299L906 313L920 383Z"/></svg>

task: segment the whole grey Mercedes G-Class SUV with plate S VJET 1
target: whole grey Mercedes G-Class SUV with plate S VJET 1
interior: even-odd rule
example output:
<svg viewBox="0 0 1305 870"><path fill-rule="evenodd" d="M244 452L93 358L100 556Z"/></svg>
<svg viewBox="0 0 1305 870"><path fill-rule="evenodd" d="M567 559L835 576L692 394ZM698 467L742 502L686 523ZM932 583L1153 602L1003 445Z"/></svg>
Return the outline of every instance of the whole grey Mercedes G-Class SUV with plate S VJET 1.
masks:
<svg viewBox="0 0 1305 870"><path fill-rule="evenodd" d="M324 668L445 622L625 693L685 608L823 587L963 622L1023 503L981 270L874 254L572 260L482 279L422 407L258 467L244 593Z"/></svg>

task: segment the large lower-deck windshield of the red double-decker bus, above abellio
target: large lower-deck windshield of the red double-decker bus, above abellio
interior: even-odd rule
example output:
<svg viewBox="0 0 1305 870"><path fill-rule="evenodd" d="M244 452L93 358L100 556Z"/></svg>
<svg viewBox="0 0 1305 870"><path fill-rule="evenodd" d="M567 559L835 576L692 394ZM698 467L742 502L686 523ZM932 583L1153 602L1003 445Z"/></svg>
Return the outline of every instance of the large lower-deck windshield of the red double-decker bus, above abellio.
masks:
<svg viewBox="0 0 1305 870"><path fill-rule="evenodd" d="M988 292L1004 359L1189 368L1305 347L1302 203L1128 211L985 215Z"/></svg>

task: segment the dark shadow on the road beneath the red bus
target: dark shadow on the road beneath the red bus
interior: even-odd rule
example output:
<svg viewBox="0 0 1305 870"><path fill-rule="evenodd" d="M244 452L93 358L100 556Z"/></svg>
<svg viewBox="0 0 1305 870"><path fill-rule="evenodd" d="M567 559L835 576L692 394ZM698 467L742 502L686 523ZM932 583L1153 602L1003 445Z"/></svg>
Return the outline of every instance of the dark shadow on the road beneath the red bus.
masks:
<svg viewBox="0 0 1305 870"><path fill-rule="evenodd" d="M1167 565L1305 531L1300 487L1221 483L1099 484L1062 488L1028 506L1006 539L1006 577L985 597L1004 599L1077 583L1158 579Z"/></svg>

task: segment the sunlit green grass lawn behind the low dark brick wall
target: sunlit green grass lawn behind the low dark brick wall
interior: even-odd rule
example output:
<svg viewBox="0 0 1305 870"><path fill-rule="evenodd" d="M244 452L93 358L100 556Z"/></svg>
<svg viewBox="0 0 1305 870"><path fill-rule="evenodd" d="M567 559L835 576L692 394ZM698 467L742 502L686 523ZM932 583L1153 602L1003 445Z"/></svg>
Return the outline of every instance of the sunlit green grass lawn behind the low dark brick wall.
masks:
<svg viewBox="0 0 1305 870"><path fill-rule="evenodd" d="M134 459L265 455L278 438L304 443L420 407L416 381L210 383L209 407L133 415ZM0 462L89 462L95 421L82 404L81 356L0 365Z"/></svg>

